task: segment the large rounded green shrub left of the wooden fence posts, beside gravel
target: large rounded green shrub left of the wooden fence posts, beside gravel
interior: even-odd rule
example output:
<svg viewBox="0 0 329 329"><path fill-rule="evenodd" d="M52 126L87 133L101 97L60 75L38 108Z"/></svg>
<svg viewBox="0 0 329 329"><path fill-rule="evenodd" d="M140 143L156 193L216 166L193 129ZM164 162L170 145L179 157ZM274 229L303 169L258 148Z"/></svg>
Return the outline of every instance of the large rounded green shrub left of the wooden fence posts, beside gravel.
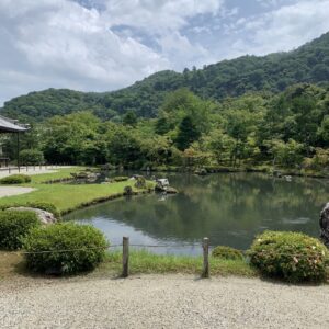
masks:
<svg viewBox="0 0 329 329"><path fill-rule="evenodd" d="M46 274L52 271L73 274L93 270L104 259L106 247L100 230L75 223L35 228L23 240L23 248L32 252L25 254L27 268Z"/></svg>

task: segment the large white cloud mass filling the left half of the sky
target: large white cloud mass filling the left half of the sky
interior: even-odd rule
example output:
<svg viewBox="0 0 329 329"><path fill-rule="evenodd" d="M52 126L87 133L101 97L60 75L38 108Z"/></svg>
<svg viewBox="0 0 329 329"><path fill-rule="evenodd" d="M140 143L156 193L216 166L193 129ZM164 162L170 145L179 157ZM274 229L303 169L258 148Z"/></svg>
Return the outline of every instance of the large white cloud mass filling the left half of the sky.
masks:
<svg viewBox="0 0 329 329"><path fill-rule="evenodd" d="M0 101L48 87L112 90L170 67L97 10L65 0L1 0L0 44Z"/></svg>

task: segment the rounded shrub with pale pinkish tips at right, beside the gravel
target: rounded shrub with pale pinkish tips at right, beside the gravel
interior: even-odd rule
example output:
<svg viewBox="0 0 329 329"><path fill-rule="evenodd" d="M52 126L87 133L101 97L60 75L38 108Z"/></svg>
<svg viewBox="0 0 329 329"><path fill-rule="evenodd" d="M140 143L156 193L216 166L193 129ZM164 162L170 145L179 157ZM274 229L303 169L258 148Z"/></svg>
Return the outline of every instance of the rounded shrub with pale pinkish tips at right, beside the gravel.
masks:
<svg viewBox="0 0 329 329"><path fill-rule="evenodd" d="M322 282L327 277L328 249L304 234L265 231L248 251L250 262L263 274L288 282Z"/></svg>

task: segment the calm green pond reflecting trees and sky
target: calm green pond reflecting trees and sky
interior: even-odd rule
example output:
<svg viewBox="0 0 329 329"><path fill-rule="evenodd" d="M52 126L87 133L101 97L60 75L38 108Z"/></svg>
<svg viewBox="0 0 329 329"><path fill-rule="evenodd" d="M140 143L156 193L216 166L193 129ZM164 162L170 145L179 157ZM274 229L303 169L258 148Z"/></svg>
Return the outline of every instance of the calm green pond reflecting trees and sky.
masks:
<svg viewBox="0 0 329 329"><path fill-rule="evenodd" d="M177 195L143 195L98 204L65 216L92 224L112 245L162 246L157 253L198 254L203 237L212 246L246 250L263 230L303 231L318 237L319 212L329 201L327 180L273 179L260 173L207 177L166 174Z"/></svg>

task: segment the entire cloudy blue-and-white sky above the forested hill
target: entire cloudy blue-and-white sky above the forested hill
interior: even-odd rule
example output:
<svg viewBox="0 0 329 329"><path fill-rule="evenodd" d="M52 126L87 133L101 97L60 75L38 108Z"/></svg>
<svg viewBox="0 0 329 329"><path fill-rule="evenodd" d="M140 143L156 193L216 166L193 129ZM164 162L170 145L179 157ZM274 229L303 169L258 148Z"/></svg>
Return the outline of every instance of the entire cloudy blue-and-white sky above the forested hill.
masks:
<svg viewBox="0 0 329 329"><path fill-rule="evenodd" d="M290 50L329 31L328 12L329 0L0 0L0 105Z"/></svg>

